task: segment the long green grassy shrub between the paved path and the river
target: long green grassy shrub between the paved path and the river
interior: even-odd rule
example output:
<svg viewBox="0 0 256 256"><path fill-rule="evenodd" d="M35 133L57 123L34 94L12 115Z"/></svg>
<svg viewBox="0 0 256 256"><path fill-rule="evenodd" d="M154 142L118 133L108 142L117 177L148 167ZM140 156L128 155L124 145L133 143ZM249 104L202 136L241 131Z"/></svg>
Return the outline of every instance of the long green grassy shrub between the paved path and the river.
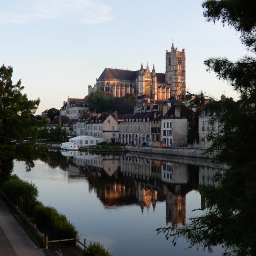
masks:
<svg viewBox="0 0 256 256"><path fill-rule="evenodd" d="M37 200L38 188L34 183L12 175L4 182L2 192L18 205L23 213L32 218L39 230L45 232L51 240L75 238L77 230L74 224L55 208L44 206Z"/></svg>

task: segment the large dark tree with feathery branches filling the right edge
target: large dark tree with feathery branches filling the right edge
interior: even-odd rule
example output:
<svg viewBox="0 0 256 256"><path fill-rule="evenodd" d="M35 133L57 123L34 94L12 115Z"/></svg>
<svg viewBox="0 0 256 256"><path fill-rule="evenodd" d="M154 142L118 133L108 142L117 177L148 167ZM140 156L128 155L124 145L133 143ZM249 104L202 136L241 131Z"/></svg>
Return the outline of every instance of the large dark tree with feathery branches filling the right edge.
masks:
<svg viewBox="0 0 256 256"><path fill-rule="evenodd" d="M214 138L208 152L220 149L217 162L225 162L229 170L221 178L218 188L202 186L206 198L206 212L192 218L190 223L175 230L160 228L166 238L184 237L191 246L202 246L212 252L221 245L225 255L256 255L256 1L207 0L202 6L208 21L221 20L239 31L242 44L251 56L236 62L227 58L209 58L205 61L208 71L228 80L240 93L237 102L226 100L209 108L218 110L216 119L222 129Z"/></svg>

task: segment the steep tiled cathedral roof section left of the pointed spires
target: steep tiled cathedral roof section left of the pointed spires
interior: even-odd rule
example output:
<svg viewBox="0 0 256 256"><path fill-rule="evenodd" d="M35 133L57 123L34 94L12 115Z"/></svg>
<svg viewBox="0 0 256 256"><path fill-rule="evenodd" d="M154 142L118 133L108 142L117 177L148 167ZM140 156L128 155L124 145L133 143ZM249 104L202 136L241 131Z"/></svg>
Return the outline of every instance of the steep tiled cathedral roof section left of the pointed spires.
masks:
<svg viewBox="0 0 256 256"><path fill-rule="evenodd" d="M105 68L98 80L118 79L135 81L138 71Z"/></svg>

